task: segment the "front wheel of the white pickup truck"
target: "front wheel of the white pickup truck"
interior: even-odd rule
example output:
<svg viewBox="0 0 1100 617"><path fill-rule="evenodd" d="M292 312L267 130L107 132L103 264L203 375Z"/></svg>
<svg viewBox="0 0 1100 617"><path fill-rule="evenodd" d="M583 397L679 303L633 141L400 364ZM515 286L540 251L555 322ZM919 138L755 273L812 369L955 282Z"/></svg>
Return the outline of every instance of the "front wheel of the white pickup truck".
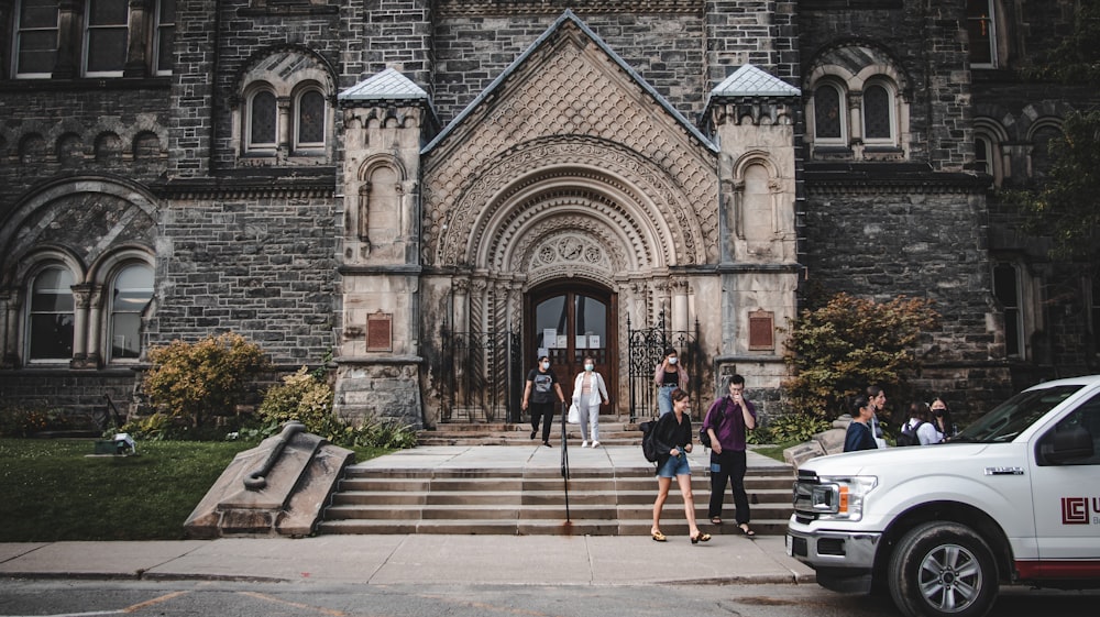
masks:
<svg viewBox="0 0 1100 617"><path fill-rule="evenodd" d="M909 617L982 617L997 597L992 551L956 522L910 530L894 547L887 575L894 604Z"/></svg>

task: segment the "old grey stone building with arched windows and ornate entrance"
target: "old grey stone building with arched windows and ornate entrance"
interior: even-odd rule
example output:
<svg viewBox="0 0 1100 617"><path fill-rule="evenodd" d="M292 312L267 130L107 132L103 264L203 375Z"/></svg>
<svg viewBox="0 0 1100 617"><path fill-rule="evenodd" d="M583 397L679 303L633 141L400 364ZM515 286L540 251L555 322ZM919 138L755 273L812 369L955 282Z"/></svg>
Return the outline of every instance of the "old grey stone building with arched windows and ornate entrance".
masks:
<svg viewBox="0 0 1100 617"><path fill-rule="evenodd" d="M516 421L541 353L646 414L666 344L772 412L813 288L933 298L919 385L982 410L1096 364L990 192L1096 102L1020 78L1074 7L4 0L0 394L132 405L233 330L348 416Z"/></svg>

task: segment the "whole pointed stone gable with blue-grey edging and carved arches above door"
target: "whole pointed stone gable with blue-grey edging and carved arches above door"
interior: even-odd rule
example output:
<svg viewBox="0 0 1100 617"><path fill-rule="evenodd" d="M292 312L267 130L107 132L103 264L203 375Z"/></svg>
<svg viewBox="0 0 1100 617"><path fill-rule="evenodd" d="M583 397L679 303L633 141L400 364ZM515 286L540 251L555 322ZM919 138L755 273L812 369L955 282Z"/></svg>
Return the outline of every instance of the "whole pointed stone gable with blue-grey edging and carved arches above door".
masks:
<svg viewBox="0 0 1100 617"><path fill-rule="evenodd" d="M422 155L426 265L530 274L571 225L604 283L716 255L717 148L571 11Z"/></svg>

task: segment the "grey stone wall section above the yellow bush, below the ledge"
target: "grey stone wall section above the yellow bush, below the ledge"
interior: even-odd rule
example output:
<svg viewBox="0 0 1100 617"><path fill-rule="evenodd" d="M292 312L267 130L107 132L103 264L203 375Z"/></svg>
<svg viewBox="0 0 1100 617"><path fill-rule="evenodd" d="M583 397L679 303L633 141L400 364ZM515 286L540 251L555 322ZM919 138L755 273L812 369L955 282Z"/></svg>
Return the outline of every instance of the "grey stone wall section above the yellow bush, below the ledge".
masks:
<svg viewBox="0 0 1100 617"><path fill-rule="evenodd" d="M161 304L151 343L233 330L276 364L317 364L332 348L331 195L177 196L162 213Z"/></svg>

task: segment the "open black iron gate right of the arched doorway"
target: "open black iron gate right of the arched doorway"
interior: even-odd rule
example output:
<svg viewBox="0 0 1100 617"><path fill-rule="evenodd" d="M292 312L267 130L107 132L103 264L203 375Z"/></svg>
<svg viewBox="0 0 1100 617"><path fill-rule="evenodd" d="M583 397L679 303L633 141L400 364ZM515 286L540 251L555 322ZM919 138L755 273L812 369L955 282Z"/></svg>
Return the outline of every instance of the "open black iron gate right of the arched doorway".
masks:
<svg viewBox="0 0 1100 617"><path fill-rule="evenodd" d="M698 321L694 330L669 330L664 321L664 311L657 318L657 324L651 328L635 330L630 318L626 320L627 362L629 363L628 385L630 388L630 421L639 418L657 416L657 386L653 384L653 372L664 360L664 349L675 348L688 372L688 392L691 394L691 414L700 417L701 406L708 403L703 399L700 386L703 383L703 354L698 349Z"/></svg>

